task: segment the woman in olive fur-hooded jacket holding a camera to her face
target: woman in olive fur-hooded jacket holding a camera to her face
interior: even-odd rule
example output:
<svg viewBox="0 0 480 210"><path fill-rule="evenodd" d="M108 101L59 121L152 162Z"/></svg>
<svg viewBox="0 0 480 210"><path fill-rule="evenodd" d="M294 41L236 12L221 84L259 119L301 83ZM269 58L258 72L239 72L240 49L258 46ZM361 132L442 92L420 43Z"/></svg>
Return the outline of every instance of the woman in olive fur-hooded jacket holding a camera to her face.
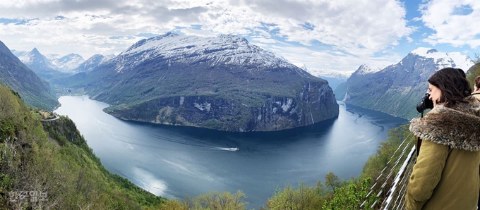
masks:
<svg viewBox="0 0 480 210"><path fill-rule="evenodd" d="M420 147L406 194L407 209L476 209L480 189L480 101L455 68L428 79L433 109L410 131Z"/></svg>

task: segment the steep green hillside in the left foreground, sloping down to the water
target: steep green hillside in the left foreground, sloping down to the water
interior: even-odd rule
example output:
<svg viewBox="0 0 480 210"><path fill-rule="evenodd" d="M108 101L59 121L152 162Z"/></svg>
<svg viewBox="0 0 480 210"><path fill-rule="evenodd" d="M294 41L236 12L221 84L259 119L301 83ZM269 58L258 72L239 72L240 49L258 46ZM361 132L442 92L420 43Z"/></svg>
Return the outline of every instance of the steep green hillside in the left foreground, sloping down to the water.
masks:
<svg viewBox="0 0 480 210"><path fill-rule="evenodd" d="M32 196L20 199L17 192ZM0 209L148 209L164 201L109 173L73 121L41 122L0 86Z"/></svg>

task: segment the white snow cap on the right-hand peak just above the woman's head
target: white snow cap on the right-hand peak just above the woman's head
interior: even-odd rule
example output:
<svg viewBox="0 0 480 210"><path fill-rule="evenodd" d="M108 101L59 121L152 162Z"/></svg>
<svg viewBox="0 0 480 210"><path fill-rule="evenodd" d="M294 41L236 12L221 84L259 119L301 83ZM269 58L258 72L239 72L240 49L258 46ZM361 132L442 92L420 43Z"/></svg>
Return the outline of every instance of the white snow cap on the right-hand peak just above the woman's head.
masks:
<svg viewBox="0 0 480 210"><path fill-rule="evenodd" d="M460 52L445 53L432 48L419 47L410 53L424 58L433 58L433 62L438 66L438 70L452 67L462 68L462 70L467 71L475 64L469 56Z"/></svg>

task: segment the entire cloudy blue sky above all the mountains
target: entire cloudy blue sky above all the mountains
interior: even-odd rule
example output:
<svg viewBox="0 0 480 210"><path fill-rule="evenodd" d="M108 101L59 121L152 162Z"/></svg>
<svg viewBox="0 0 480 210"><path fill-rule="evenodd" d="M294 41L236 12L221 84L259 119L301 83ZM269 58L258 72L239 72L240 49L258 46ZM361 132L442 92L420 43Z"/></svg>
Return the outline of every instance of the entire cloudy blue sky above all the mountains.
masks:
<svg viewBox="0 0 480 210"><path fill-rule="evenodd" d="M176 32L238 35L296 66L382 68L417 47L480 54L478 0L0 1L0 41L42 54L119 54Z"/></svg>

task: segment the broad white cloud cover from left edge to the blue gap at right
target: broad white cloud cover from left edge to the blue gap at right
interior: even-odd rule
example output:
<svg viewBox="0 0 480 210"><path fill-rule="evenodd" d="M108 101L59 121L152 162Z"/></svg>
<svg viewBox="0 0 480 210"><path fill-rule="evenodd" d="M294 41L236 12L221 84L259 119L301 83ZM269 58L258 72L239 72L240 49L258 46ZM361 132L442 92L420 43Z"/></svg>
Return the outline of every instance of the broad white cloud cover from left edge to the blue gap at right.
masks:
<svg viewBox="0 0 480 210"><path fill-rule="evenodd" d="M0 23L0 40L11 49L37 47L43 54L73 52L86 59L119 54L143 39L140 33L234 34L294 63L351 70L391 60L373 54L409 40L414 28L405 14L396 0L1 1L0 18L37 19L30 25ZM129 39L109 38L116 36Z"/></svg>

